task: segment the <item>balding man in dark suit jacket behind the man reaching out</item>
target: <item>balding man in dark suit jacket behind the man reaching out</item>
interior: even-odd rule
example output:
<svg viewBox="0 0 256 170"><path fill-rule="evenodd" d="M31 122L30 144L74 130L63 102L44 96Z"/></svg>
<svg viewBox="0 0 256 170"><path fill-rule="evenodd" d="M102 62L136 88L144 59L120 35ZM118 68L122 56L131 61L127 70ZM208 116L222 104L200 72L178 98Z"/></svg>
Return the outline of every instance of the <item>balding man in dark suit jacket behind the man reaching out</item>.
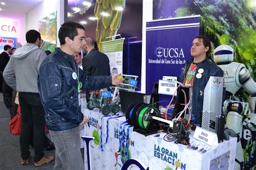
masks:
<svg viewBox="0 0 256 170"><path fill-rule="evenodd" d="M90 76L109 76L110 75L110 65L109 58L106 54L99 52L94 45L92 38L85 39L85 52L87 54L82 59L82 65L84 73ZM86 101L89 102L90 94L86 91Z"/></svg>

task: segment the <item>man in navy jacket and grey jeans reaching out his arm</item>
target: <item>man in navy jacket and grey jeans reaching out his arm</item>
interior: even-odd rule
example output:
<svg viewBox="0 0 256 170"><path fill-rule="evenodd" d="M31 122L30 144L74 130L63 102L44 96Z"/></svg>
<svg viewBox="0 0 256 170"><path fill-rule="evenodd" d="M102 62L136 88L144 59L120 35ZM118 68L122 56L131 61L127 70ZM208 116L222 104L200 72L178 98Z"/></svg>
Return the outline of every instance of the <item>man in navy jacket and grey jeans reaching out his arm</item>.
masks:
<svg viewBox="0 0 256 170"><path fill-rule="evenodd" d="M96 90L122 82L115 76L86 76L73 59L85 44L85 29L66 22L58 32L60 48L39 68L38 89L45 110L46 125L56 147L54 169L84 169L80 152L79 125L88 119L80 109L80 89Z"/></svg>

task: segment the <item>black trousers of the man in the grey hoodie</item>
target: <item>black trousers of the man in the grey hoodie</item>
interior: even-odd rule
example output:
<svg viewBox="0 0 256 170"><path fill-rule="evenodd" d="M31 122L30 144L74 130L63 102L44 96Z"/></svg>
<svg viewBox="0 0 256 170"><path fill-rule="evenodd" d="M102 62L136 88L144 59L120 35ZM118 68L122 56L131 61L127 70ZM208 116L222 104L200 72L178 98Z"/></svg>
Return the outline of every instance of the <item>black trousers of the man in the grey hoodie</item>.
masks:
<svg viewBox="0 0 256 170"><path fill-rule="evenodd" d="M19 93L19 104L22 114L22 131L19 138L21 145L21 157L23 160L30 157L29 145L33 131L35 149L35 162L44 156L44 108L38 93Z"/></svg>

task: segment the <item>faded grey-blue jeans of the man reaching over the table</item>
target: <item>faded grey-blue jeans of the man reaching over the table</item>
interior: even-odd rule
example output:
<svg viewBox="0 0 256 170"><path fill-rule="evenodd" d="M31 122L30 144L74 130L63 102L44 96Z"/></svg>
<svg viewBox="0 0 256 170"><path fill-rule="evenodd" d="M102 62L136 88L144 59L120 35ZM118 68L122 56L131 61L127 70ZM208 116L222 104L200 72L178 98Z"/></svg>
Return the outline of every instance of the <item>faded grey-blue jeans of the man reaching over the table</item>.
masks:
<svg viewBox="0 0 256 170"><path fill-rule="evenodd" d="M49 132L55 145L54 169L84 169L79 126L62 131L49 130Z"/></svg>

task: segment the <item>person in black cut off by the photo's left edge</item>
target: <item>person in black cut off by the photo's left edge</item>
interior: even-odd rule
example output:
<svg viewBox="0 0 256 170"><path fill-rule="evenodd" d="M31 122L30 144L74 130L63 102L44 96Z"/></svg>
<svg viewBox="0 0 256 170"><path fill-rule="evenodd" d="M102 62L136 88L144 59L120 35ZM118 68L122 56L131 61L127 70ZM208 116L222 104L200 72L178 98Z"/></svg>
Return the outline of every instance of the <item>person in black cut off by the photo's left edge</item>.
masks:
<svg viewBox="0 0 256 170"><path fill-rule="evenodd" d="M12 89L3 79L4 68L10 60L11 46L5 45L4 51L0 55L0 91L3 91L4 104L6 108L11 109Z"/></svg>

